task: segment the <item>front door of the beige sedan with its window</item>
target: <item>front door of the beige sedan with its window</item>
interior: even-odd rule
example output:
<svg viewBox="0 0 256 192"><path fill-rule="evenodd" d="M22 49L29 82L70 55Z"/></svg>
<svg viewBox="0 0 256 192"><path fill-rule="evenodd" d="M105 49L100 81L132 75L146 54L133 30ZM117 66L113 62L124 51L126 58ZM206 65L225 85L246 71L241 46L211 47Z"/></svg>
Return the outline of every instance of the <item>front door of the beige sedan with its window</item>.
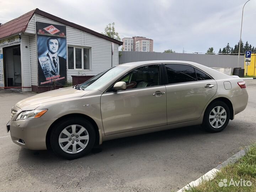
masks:
<svg viewBox="0 0 256 192"><path fill-rule="evenodd" d="M110 90L101 96L105 135L167 124L166 88L161 85L159 64L134 69L119 81L126 82L126 90Z"/></svg>

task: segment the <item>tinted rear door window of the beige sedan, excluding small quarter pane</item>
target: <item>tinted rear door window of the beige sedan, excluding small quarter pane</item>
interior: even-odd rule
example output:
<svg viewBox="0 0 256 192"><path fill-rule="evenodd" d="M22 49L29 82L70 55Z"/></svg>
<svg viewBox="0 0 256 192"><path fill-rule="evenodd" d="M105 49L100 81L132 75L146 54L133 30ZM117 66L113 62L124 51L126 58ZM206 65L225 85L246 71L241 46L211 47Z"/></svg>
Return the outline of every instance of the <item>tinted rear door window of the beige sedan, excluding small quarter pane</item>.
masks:
<svg viewBox="0 0 256 192"><path fill-rule="evenodd" d="M196 81L196 73L190 65L166 64L168 84Z"/></svg>

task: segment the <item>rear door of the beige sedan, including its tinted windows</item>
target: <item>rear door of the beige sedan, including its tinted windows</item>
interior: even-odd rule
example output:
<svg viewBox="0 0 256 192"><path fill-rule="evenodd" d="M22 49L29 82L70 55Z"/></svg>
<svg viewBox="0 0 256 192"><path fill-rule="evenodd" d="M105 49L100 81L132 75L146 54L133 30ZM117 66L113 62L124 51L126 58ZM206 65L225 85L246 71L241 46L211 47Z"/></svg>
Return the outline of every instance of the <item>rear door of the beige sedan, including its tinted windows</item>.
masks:
<svg viewBox="0 0 256 192"><path fill-rule="evenodd" d="M217 83L203 71L187 64L165 64L167 124L198 119L216 94Z"/></svg>

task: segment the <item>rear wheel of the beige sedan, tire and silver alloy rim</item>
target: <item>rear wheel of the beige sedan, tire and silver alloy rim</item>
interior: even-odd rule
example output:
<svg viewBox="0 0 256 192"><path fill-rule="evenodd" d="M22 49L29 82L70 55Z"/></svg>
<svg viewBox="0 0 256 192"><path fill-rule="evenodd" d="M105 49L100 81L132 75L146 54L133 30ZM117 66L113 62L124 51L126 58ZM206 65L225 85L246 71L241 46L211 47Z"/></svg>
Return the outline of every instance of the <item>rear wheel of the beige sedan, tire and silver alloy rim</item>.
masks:
<svg viewBox="0 0 256 192"><path fill-rule="evenodd" d="M202 127L208 132L217 133L226 128L229 119L228 105L222 101L215 101L206 108Z"/></svg>

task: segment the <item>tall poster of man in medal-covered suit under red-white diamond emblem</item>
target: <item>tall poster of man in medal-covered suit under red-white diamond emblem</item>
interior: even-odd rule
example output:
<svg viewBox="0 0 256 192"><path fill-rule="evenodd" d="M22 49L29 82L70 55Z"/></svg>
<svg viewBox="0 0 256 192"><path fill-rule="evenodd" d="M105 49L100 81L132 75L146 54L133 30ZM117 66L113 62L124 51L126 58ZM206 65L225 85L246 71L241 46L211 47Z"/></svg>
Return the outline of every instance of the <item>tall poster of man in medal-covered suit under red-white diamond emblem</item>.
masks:
<svg viewBox="0 0 256 192"><path fill-rule="evenodd" d="M37 22L38 86L66 83L66 26Z"/></svg>

